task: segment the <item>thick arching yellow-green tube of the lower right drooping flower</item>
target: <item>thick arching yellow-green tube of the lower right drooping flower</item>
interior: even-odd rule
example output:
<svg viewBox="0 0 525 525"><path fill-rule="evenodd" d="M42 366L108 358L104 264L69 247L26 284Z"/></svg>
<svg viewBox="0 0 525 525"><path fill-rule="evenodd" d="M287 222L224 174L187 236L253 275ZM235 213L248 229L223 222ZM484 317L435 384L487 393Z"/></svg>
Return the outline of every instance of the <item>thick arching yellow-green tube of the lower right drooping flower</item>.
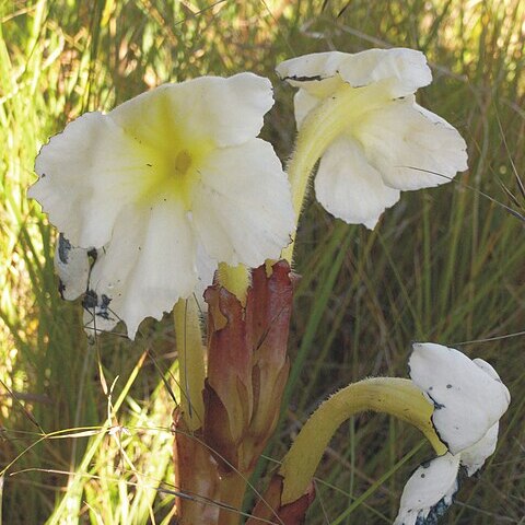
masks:
<svg viewBox="0 0 525 525"><path fill-rule="evenodd" d="M408 421L425 435L438 454L446 452L446 446L432 425L434 407L410 380L363 380L342 388L324 401L301 429L279 469L283 478L282 505L305 493L323 453L339 425L351 416L368 410L389 413Z"/></svg>

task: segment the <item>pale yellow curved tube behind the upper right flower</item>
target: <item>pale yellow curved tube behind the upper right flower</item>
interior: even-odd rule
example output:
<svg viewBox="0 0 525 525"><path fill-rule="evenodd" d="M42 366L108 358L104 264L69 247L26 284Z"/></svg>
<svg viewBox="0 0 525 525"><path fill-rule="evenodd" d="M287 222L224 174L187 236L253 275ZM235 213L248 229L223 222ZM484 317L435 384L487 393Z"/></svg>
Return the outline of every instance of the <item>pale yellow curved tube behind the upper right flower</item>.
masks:
<svg viewBox="0 0 525 525"><path fill-rule="evenodd" d="M295 141L294 152L288 164L288 176L292 188L295 224L307 195L310 176L316 162L338 137L349 133L359 126L365 113L385 104L388 82L382 81L362 88L342 84L313 109L302 122ZM283 249L282 258L293 258L295 237Z"/></svg>

